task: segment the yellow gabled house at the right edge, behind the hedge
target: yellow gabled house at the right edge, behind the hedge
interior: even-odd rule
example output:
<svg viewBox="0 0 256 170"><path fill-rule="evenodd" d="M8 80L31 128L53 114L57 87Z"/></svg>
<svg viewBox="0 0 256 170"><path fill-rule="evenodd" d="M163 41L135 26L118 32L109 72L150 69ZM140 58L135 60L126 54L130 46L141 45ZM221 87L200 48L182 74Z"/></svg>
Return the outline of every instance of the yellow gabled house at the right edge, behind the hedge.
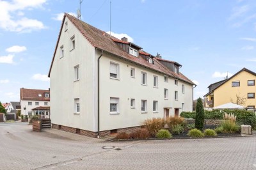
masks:
<svg viewBox="0 0 256 170"><path fill-rule="evenodd" d="M255 72L243 68L232 77L211 84L208 86L209 93L204 95L205 107L217 107L232 102L255 109L255 79Z"/></svg>

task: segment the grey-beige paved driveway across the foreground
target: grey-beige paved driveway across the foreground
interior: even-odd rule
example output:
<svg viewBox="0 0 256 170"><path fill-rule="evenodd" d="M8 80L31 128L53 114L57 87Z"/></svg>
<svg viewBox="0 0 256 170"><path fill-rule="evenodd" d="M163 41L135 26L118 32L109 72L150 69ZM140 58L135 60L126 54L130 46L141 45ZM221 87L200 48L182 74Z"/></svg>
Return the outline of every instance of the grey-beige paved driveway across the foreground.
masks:
<svg viewBox="0 0 256 170"><path fill-rule="evenodd" d="M110 143L31 128L0 123L0 169L256 169L255 136Z"/></svg>

